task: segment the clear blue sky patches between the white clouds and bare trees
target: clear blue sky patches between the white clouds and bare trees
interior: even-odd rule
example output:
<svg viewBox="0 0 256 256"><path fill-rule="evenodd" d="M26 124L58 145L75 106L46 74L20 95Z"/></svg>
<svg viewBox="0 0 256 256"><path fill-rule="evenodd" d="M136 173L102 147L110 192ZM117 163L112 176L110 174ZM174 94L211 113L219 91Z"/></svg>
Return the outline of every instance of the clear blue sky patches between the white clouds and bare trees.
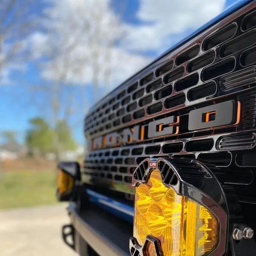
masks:
<svg viewBox="0 0 256 256"><path fill-rule="evenodd" d="M224 8L232 5L235 2L236 0L226 0ZM133 27L139 27L144 24L150 25L150 20L141 19L140 17L138 17L138 11L141 4L142 3L139 0L111 0L111 8L113 8L114 12L118 15L122 13L122 21ZM39 13L39 8L43 7L44 2L40 1L40 5L38 5L38 8L34 9L34 14L37 15ZM196 16L195 19L197 19ZM169 41L167 40L167 45L161 44L160 52L167 50L167 48L172 46L172 42L179 41L182 37L186 37L187 35L191 34L193 30L194 29L188 28L185 31L182 31L182 33L171 34L170 36L172 37L172 40L168 39ZM128 50L134 50L139 54L144 54L147 57L150 57L151 59L159 55L159 49L157 48L146 50L138 48ZM44 107L44 98L40 93L35 93L33 98L29 96L30 89L28 90L27 86L29 86L29 88L32 88L33 86L40 85L42 83L42 80L40 78L39 70L37 69L37 67L33 63L26 64L26 72L13 72L11 74L11 84L0 86L0 131L16 131L20 142L23 142L25 131L29 128L29 118L45 115L47 113L47 106ZM79 98L79 90L76 90L75 88L72 90L74 90L74 93L77 94ZM91 94L90 87L88 87L87 92ZM78 101L79 100L80 99L78 99ZM38 104L35 104L35 102L38 101L41 102L40 107L38 107ZM35 105L37 105L37 107L35 107ZM72 123L76 123L78 121L79 118L71 118ZM82 131L82 123L74 128L74 135L79 144L83 143Z"/></svg>

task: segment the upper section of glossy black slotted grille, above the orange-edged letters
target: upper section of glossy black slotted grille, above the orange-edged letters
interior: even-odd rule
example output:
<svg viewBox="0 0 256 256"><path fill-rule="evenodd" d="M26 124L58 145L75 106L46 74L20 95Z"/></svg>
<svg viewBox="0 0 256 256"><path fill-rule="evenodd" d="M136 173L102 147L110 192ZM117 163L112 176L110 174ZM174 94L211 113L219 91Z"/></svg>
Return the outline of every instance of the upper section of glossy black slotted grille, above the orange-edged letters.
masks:
<svg viewBox="0 0 256 256"><path fill-rule="evenodd" d="M155 102L158 103L159 111L167 113L180 105L194 105L195 100L204 102L209 97L214 99L229 95L238 88L242 90L255 86L256 67L248 66L255 61L256 48L251 46L255 43L256 29L241 29L241 19L246 15L241 15L222 30L206 37L202 45L191 43L192 46L186 50L181 48L176 54L170 53L152 68L149 67L118 87L113 92L116 97L109 95L86 116L86 136L91 138L111 132L138 122L142 117L153 118L159 112L152 112L150 108L148 111L148 106ZM149 72L150 69L153 72ZM179 95L180 101L170 103L177 100L176 95L180 91L184 92L182 97ZM200 95L199 91L206 92ZM169 97L168 100L165 100L166 97ZM138 106L142 109L138 109ZM113 114L110 109L113 109L118 120L109 118ZM127 112L131 118L123 118Z"/></svg>

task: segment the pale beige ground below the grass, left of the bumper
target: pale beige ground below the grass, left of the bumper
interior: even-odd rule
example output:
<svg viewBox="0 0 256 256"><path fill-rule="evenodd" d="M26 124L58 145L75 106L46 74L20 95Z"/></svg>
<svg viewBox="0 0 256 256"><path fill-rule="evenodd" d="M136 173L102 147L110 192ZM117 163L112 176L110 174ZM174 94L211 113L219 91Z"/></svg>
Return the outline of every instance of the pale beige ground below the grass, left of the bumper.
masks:
<svg viewBox="0 0 256 256"><path fill-rule="evenodd" d="M0 211L0 255L75 256L61 238L66 204Z"/></svg>

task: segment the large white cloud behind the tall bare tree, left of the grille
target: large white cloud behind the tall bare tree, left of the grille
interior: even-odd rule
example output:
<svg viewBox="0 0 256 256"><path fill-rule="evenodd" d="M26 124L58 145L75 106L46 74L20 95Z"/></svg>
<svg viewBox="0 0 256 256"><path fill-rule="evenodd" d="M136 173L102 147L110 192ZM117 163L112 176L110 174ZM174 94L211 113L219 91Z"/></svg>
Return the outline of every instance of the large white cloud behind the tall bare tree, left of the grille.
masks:
<svg viewBox="0 0 256 256"><path fill-rule="evenodd" d="M42 57L43 78L90 84L97 65L99 86L104 86L107 92L150 61L146 56L116 46L123 27L108 0L51 0L50 3L43 22L46 32L38 31L28 39L35 59Z"/></svg>

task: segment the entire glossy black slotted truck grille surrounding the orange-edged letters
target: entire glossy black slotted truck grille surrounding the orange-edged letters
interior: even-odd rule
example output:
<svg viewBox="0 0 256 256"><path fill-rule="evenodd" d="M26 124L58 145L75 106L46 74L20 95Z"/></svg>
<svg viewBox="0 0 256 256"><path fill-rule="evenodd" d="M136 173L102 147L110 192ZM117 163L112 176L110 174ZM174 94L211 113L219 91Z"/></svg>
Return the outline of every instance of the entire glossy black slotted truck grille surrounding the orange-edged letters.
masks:
<svg viewBox="0 0 256 256"><path fill-rule="evenodd" d="M236 186L241 201L256 203L256 161L250 158L256 144L255 17L253 2L171 50L97 103L84 124L89 144L84 181L127 193L135 167L147 157L197 158L220 167L224 183ZM218 122L218 113L209 110L226 112L227 103L238 104L237 122L208 125ZM202 118L195 122L191 117L201 109L210 118L202 124ZM149 136L153 121L171 116L177 117L174 132ZM122 138L125 128L132 131L135 126L143 127L143 138L117 138L110 146L96 143L111 133Z"/></svg>

